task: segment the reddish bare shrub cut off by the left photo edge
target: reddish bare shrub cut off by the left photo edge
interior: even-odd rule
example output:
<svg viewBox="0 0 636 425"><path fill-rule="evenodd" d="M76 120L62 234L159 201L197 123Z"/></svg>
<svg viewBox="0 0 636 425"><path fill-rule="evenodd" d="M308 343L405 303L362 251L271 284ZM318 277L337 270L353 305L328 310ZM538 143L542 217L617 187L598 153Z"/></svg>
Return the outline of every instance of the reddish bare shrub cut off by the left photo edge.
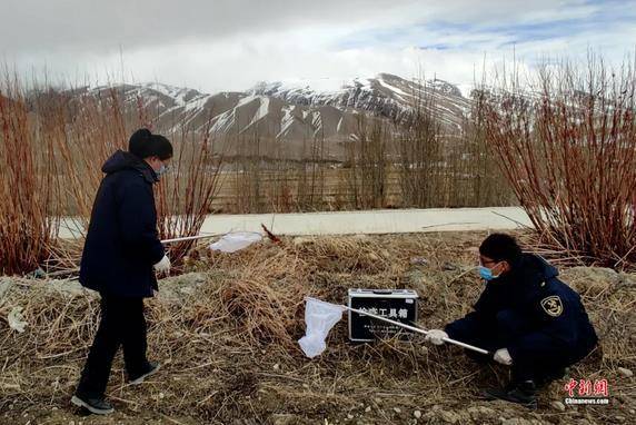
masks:
<svg viewBox="0 0 636 425"><path fill-rule="evenodd" d="M60 172L47 126L30 111L16 75L0 81L0 274L37 268L60 220Z"/></svg>

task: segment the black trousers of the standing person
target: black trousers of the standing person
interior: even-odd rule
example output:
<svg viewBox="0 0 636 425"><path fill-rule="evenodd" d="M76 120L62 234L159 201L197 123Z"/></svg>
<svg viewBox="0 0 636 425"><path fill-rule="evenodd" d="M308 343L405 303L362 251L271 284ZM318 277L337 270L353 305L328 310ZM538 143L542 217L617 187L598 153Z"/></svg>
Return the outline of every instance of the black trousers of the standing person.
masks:
<svg viewBox="0 0 636 425"><path fill-rule="evenodd" d="M99 328L77 388L78 394L91 398L103 396L112 359L120 346L129 375L139 375L148 369L143 298L102 294L100 306Z"/></svg>

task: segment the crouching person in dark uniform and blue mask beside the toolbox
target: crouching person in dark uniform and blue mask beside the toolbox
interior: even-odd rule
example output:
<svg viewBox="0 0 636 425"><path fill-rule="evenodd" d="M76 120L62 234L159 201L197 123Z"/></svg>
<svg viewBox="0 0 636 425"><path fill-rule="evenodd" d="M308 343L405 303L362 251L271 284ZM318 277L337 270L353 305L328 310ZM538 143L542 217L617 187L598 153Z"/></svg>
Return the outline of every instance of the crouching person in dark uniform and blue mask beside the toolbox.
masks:
<svg viewBox="0 0 636 425"><path fill-rule="evenodd" d="M479 260L486 288L474 312L444 330L430 330L426 339L440 345L450 337L495 353L494 360L511 367L511 382L486 389L484 396L536 408L537 389L587 356L597 344L596 333L580 297L557 278L557 269L539 256L523 254L511 236L488 236Z"/></svg>

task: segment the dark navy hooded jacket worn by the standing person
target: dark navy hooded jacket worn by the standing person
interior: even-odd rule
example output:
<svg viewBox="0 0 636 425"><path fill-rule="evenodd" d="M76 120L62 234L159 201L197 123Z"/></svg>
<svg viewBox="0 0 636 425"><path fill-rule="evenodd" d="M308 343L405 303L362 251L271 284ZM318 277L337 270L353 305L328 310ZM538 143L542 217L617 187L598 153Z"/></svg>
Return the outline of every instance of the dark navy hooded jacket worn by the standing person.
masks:
<svg viewBox="0 0 636 425"><path fill-rule="evenodd" d="M151 297L152 266L165 255L157 233L155 170L118 150L101 169L80 265L82 286L121 297Z"/></svg>

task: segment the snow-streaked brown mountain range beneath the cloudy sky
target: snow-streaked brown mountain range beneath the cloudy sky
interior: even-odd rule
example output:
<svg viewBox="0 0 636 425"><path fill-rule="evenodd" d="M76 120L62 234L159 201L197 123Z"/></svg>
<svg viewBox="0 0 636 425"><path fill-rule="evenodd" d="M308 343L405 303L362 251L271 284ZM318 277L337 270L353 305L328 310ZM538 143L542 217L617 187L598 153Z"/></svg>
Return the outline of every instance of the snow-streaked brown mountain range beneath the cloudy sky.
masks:
<svg viewBox="0 0 636 425"><path fill-rule="evenodd" d="M98 87L82 95L103 95L110 89ZM186 127L215 137L258 137L289 145L321 139L337 146L351 138L362 115L399 121L426 103L425 98L433 97L434 101L426 105L433 105L440 121L448 126L460 126L470 108L470 100L457 86L388 73L341 82L261 82L246 91L213 95L157 82L115 89L131 113L142 103L160 131Z"/></svg>

